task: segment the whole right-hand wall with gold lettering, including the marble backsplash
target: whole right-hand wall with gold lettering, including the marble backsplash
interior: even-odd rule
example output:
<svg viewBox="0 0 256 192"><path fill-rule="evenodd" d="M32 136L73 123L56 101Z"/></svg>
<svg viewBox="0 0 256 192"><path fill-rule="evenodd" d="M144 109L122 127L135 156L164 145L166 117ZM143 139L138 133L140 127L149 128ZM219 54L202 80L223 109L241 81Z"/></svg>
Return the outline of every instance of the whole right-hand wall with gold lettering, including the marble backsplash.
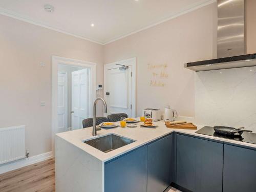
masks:
<svg viewBox="0 0 256 192"><path fill-rule="evenodd" d="M256 50L255 3L246 1L247 53ZM104 46L104 63L137 58L137 115L143 108L163 110L170 104L179 115L195 117L195 123L245 126L256 132L256 67L205 72L183 68L185 62L215 58L216 35L213 3ZM154 77L161 72L168 78ZM152 79L166 85L152 87Z"/></svg>

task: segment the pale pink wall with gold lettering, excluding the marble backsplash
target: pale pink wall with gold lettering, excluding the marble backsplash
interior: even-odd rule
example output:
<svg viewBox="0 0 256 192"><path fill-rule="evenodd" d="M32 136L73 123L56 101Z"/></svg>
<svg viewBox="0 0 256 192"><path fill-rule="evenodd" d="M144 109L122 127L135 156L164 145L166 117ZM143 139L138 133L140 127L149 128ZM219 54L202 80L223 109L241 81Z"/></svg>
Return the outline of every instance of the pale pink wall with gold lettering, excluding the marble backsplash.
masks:
<svg viewBox="0 0 256 192"><path fill-rule="evenodd" d="M195 73L183 65L214 57L216 35L217 4L213 3L105 45L104 63L136 57L137 116L142 109L163 110L169 104L179 115L193 117Z"/></svg>

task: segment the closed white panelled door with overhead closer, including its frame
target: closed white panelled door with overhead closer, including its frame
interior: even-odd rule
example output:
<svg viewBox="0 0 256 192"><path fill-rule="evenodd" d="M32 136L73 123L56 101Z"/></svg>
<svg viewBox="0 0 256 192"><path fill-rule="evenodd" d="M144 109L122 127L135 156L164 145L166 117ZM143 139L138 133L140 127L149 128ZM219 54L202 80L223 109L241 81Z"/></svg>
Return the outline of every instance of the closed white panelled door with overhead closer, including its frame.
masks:
<svg viewBox="0 0 256 192"><path fill-rule="evenodd" d="M116 64L124 65L127 69ZM135 114L135 70L136 60L127 59L104 66L104 99L108 114L126 113L129 117Z"/></svg>

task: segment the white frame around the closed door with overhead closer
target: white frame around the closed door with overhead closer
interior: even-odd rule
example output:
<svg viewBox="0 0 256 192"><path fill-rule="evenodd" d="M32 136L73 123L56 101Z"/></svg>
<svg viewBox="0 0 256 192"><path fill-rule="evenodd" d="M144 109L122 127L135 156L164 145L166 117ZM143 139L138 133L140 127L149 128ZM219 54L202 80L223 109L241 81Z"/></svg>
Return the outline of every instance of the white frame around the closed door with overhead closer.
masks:
<svg viewBox="0 0 256 192"><path fill-rule="evenodd" d="M124 59L124 60L120 60L120 61L116 61L116 62L111 62L111 63L107 63L104 64L104 84L106 82L106 70L108 70L110 68L110 66L118 63L121 65L125 65L127 61L131 62L132 66L132 82L131 82L131 90L132 90L132 117L136 117L136 57L130 58L130 59ZM103 86L103 97L105 98L105 85Z"/></svg>

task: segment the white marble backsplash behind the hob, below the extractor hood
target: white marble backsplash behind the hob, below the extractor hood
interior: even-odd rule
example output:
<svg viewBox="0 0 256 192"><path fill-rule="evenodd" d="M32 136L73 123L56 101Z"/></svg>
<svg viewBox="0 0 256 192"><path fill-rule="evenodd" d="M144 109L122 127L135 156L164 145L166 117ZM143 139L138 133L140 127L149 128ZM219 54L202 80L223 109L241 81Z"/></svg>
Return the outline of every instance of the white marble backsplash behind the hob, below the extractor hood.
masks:
<svg viewBox="0 0 256 192"><path fill-rule="evenodd" d="M256 133L256 67L196 72L195 122Z"/></svg>

